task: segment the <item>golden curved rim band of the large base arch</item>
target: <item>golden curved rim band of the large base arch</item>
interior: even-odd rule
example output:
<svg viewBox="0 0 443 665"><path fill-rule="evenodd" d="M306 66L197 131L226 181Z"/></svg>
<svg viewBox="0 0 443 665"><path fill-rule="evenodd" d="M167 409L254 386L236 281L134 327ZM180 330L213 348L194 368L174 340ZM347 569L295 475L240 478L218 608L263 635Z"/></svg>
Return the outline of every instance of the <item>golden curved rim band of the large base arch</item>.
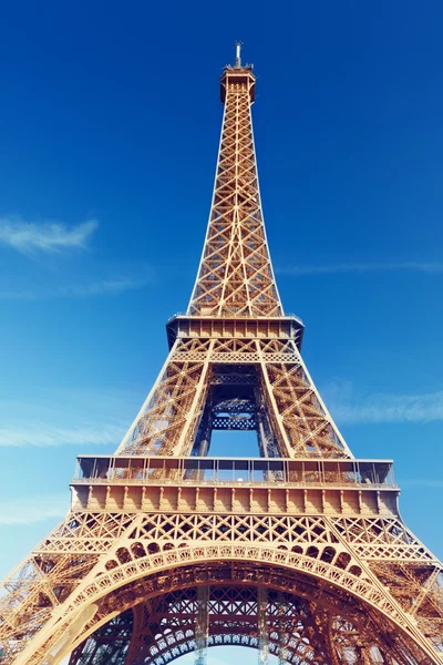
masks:
<svg viewBox="0 0 443 665"><path fill-rule="evenodd" d="M326 548L319 548L319 555L312 556L265 545L205 543L140 556L146 543L135 541L131 545L120 548L119 552L107 559L102 570L84 581L80 591L66 601L62 617L60 613L59 621L55 615L45 625L42 631L45 634L41 636L38 651L29 654L24 649L17 661L18 665L40 664L86 606L96 605L97 612L74 638L68 653L111 616L141 603L141 598L155 597L165 593L167 589L223 584L227 580L244 585L277 586L286 592L292 592L297 587L301 597L318 598L323 595L332 605L342 605L352 598L352 604L370 613L377 624L391 632L392 638L399 636L403 645L399 648L409 648L404 645L412 641L418 653L421 652L420 662L437 663L430 645L381 584L364 573L356 575L346 567L339 567L340 564L322 561L321 555ZM146 546L150 549L150 544ZM131 560L123 562L127 555ZM279 579L278 584L276 577ZM60 652L60 659L65 655L66 651Z"/></svg>

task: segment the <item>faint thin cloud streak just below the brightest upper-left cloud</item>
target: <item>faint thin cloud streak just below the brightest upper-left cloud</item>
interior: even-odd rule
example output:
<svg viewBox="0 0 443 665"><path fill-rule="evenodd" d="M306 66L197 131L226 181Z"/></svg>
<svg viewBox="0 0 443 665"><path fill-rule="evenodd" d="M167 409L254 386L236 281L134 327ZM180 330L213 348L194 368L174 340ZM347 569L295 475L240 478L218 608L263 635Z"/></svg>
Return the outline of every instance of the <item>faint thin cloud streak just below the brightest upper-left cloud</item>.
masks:
<svg viewBox="0 0 443 665"><path fill-rule="evenodd" d="M55 287L20 289L0 288L0 300L48 300L52 298L92 298L94 296L120 296L121 294L145 287L152 283L146 277L106 277L92 282L66 284Z"/></svg>

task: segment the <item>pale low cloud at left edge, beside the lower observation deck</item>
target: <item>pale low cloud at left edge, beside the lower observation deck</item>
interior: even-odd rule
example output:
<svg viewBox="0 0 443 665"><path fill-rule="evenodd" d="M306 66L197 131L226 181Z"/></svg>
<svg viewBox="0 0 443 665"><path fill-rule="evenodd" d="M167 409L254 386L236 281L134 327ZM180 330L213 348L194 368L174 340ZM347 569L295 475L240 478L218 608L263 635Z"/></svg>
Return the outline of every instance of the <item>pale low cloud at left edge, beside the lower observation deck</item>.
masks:
<svg viewBox="0 0 443 665"><path fill-rule="evenodd" d="M69 500L69 492L63 492L0 501L0 525L34 524L62 518L68 512Z"/></svg>

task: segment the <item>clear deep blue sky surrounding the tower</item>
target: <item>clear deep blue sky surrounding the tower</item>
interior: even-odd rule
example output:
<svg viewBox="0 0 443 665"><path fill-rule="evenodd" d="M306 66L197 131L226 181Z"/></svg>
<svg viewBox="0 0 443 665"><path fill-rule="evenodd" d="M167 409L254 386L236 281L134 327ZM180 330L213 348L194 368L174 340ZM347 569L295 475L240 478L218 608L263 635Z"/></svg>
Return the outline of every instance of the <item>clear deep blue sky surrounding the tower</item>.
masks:
<svg viewBox="0 0 443 665"><path fill-rule="evenodd" d="M354 454L394 458L402 515L442 556L443 6L1 14L2 573L64 513L75 456L116 448L164 360L236 39L258 76L267 232L305 359Z"/></svg>

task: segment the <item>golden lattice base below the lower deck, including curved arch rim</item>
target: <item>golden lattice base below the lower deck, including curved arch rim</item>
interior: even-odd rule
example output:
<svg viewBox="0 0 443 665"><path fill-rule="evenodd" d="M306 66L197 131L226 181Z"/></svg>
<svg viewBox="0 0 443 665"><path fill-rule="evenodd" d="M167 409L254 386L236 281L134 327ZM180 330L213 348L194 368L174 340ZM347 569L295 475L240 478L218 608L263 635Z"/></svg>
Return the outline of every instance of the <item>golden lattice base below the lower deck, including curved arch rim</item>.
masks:
<svg viewBox="0 0 443 665"><path fill-rule="evenodd" d="M53 626L49 645L56 644L69 625L56 617L69 621L103 594L122 611L115 592L122 584L156 570L225 559L236 561L236 571L241 561L257 561L282 566L286 575L299 570L323 580L332 595L346 590L404 628L414 617L418 635L440 647L442 567L399 519L83 512L68 515L7 580L0 603L3 663L13 663L47 624Z"/></svg>

